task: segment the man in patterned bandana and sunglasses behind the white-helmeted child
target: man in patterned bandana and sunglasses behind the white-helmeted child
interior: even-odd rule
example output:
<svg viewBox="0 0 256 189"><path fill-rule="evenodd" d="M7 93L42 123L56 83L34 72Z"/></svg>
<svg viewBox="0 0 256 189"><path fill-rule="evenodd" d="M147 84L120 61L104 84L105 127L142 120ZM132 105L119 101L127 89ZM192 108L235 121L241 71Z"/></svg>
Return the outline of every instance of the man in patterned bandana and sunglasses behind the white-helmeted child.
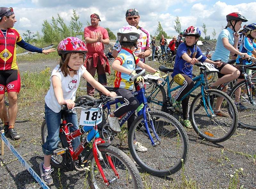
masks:
<svg viewBox="0 0 256 189"><path fill-rule="evenodd" d="M138 39L138 44L133 52L133 54L140 58L140 60L145 63L145 58L151 54L151 38L148 30L139 26L140 14L137 9L128 9L125 14L126 21L130 26L135 26L140 31L140 39ZM113 57L117 57L118 52L121 50L120 42L116 39L116 44L113 47Z"/></svg>

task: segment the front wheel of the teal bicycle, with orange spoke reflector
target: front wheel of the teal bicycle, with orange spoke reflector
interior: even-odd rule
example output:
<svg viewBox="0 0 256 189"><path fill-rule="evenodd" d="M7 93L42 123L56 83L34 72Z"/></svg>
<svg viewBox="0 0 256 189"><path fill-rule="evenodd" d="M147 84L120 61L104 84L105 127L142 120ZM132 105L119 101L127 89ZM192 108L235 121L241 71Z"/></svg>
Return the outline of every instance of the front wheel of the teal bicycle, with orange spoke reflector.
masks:
<svg viewBox="0 0 256 189"><path fill-rule="evenodd" d="M206 106L210 114L212 113L209 110L209 104L211 104L212 110L214 110L217 97L222 97L224 100L220 108L224 113L227 112L226 115L228 117L220 117L212 114L213 117L209 118L207 117L204 106L200 106L200 109L195 111L195 108L202 103L202 94L200 93L191 103L189 112L194 130L201 138L213 143L228 140L236 131L238 124L238 112L235 103L226 93L216 89L207 89L205 96L206 99L209 97L210 100L210 103L208 100L206 101Z"/></svg>

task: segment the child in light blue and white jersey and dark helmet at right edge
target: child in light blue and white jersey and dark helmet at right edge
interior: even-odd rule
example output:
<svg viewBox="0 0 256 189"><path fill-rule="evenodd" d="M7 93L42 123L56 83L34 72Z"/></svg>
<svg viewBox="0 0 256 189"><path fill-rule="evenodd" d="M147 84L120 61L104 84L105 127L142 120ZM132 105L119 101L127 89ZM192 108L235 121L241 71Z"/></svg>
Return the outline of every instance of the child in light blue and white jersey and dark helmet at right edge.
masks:
<svg viewBox="0 0 256 189"><path fill-rule="evenodd" d="M241 53L247 53L250 56L252 56L252 55L256 56L256 43L253 41L256 38L256 23L252 23L252 24L245 26L244 33L245 33L246 37L244 37L244 40L242 41L239 51ZM238 57L236 59L236 64L240 64L239 58L241 58L240 55L238 55ZM242 61L242 63L244 65L252 64L252 62L249 61L248 59L244 59ZM247 75L251 75L252 70L246 69L246 73L247 73ZM242 76L240 79L237 79L237 83L239 83L243 80L244 80L244 77ZM238 110L243 111L243 110L246 110L247 108L240 102L240 99L239 99L240 94L241 94L241 87L239 87L235 91L235 95L236 95L235 104L236 104L236 107Z"/></svg>

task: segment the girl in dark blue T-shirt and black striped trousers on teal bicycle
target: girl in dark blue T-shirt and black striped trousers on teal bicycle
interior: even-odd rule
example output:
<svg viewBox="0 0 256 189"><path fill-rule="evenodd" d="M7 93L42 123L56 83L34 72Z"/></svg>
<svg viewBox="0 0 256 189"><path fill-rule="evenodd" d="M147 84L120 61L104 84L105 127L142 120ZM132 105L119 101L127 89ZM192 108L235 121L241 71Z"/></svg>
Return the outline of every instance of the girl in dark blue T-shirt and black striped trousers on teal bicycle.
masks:
<svg viewBox="0 0 256 189"><path fill-rule="evenodd" d="M182 85L180 91L172 98L172 106L176 111L181 111L180 99L182 96L188 93L190 89L194 87L194 82L192 81L192 70L193 65L198 62L196 58L201 55L203 58L200 62L208 62L220 67L221 62L213 62L203 55L200 48L196 46L196 42L201 36L201 31L196 26L189 26L184 30L183 36L185 37L185 42L181 43L177 49L175 64L173 68L172 78L174 81ZM182 112L183 112L183 124L185 127L191 129L192 125L188 119L188 103L189 95L187 98L182 100Z"/></svg>

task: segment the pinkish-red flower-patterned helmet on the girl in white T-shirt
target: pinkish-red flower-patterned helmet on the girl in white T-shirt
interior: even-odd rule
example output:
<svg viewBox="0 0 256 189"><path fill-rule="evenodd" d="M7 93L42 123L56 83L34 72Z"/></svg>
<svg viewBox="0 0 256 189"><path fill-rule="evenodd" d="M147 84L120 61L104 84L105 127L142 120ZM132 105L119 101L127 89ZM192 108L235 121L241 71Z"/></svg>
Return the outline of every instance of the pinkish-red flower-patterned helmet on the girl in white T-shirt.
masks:
<svg viewBox="0 0 256 189"><path fill-rule="evenodd" d="M59 56L76 52L84 54L88 52L84 42L77 37L67 37L66 39L63 39L58 45Z"/></svg>

